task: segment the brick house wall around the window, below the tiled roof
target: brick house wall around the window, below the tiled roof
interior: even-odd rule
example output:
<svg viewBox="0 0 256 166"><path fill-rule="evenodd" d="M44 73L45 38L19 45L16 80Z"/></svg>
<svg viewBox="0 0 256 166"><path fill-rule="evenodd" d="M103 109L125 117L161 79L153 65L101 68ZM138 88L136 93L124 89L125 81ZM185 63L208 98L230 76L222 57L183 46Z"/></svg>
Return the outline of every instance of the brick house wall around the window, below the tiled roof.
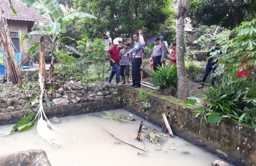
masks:
<svg viewBox="0 0 256 166"><path fill-rule="evenodd" d="M7 20L7 24L8 24L8 28L9 28L10 32L19 32L19 30L20 30L23 33L23 35L27 34L27 23L28 23L27 21ZM24 40L22 48L20 48L21 52L22 52L22 50L24 50L22 53L22 57L23 57L22 62L23 63L26 62L26 60L28 58L28 57L24 58L26 52L29 50L27 48L28 44L29 44L29 42L27 40ZM22 64L22 65L28 66L27 65L28 62L26 62L25 64Z"/></svg>

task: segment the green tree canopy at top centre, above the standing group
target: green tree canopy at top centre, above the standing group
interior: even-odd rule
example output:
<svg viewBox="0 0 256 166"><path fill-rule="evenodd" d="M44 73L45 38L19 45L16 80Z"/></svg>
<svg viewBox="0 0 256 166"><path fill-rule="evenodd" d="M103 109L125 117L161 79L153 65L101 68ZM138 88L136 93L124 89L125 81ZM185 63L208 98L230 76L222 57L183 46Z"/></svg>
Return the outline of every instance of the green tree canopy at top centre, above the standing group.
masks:
<svg viewBox="0 0 256 166"><path fill-rule="evenodd" d="M130 38L132 33L138 31L138 27L144 28L144 35L167 35L171 27L165 27L174 10L170 9L172 2L164 1L104 1L104 0L74 0L74 8L78 11L88 12L98 20L82 19L77 22L78 30L90 38L100 38L107 31L112 41L114 38L124 35ZM173 31L173 30L172 30Z"/></svg>

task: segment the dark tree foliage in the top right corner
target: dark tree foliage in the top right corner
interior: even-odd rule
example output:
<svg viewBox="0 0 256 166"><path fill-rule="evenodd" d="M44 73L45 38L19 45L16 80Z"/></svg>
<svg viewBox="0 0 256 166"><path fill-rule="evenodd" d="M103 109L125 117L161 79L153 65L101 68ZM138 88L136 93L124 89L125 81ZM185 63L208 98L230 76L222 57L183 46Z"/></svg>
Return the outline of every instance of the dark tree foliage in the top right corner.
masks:
<svg viewBox="0 0 256 166"><path fill-rule="evenodd" d="M254 18L252 0L191 0L188 16L194 26L220 25L235 28L243 20Z"/></svg>

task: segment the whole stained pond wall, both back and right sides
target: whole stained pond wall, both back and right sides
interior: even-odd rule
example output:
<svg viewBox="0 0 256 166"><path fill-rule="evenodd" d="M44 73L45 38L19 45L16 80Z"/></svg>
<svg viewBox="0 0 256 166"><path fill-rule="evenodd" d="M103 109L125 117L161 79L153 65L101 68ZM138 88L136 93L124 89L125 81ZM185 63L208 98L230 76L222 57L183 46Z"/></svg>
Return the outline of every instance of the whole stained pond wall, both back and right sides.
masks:
<svg viewBox="0 0 256 166"><path fill-rule="evenodd" d="M99 90L99 89L98 89ZM96 91L98 91L96 89ZM139 99L139 91L146 95L150 108L143 109ZM162 127L164 121L162 114L170 111L170 125L173 133L186 141L189 141L207 151L227 160L237 166L256 166L256 151L254 129L247 128L231 121L221 120L219 124L205 124L200 127L200 119L194 115L194 108L175 98L153 94L145 89L133 89L118 87L110 90L111 98L101 97L101 100L89 98L86 101L67 100L64 97L52 100L60 100L51 109L44 107L48 118L79 115L95 111L125 108L128 111L149 120ZM103 91L100 91L103 92ZM95 92L99 93L99 92ZM66 101L61 103L61 101ZM26 113L12 111L0 113L0 125L13 124L24 118Z"/></svg>

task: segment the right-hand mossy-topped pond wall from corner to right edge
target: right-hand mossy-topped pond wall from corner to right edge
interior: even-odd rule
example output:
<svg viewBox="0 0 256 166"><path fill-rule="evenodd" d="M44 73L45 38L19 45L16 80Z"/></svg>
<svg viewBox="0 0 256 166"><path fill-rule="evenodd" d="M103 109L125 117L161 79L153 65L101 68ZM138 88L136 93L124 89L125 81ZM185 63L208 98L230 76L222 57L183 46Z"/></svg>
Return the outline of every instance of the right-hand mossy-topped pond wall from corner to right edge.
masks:
<svg viewBox="0 0 256 166"><path fill-rule="evenodd" d="M237 125L230 121L221 120L219 124L203 124L200 128L200 119L196 118L193 107L162 95L147 95L151 107L147 110L142 107L139 99L139 90L126 88L125 95L130 102L126 102L126 109L142 116L158 126L163 126L162 114L172 113L170 123L176 136L183 138L207 151L227 160L237 166L255 166L256 151L254 129ZM136 102L139 101L139 102Z"/></svg>

